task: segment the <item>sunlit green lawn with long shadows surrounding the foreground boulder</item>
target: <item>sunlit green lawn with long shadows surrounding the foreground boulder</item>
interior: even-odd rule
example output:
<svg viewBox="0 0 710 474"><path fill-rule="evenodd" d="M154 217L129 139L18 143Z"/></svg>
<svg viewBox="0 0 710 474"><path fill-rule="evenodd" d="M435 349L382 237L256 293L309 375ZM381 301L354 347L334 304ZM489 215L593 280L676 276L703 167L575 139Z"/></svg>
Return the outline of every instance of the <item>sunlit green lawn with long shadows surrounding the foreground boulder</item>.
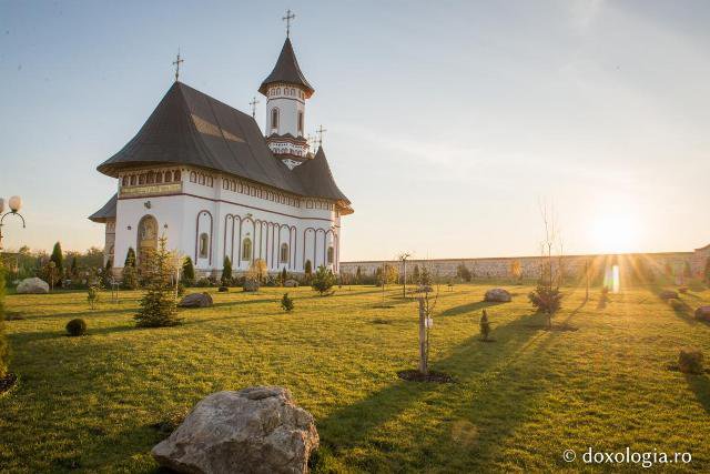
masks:
<svg viewBox="0 0 710 474"><path fill-rule="evenodd" d="M710 379L667 369L696 345L710 359L710 325L673 311L651 289L611 295L567 290L546 331L511 286L513 303L481 303L483 285L442 288L432 332L433 369L455 384L400 381L417 364L416 303L393 288L318 297L281 289L213 293L215 306L182 312L185 324L135 329L138 292L94 311L85 293L9 295L7 322L21 376L0 397L0 471L151 472L166 423L205 395L283 385L316 418L316 472L557 471L562 452L690 452L681 468L710 471ZM710 304L710 291L682 300ZM478 341L488 307L495 343ZM71 317L89 334L64 336ZM599 467L599 466L597 466ZM606 470L623 466L606 465Z"/></svg>

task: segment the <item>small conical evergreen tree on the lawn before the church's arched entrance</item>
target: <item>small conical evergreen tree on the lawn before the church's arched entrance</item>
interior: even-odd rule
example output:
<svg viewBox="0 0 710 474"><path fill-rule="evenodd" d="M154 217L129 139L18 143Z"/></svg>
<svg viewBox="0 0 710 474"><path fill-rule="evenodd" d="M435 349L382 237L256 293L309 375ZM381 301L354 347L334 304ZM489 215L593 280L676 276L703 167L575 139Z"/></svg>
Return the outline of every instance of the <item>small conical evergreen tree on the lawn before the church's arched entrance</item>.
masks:
<svg viewBox="0 0 710 474"><path fill-rule="evenodd" d="M134 316L139 327L174 326L181 323L172 276L175 269L168 251L168 239L160 238L158 249L150 252L145 262L146 292L141 309Z"/></svg>

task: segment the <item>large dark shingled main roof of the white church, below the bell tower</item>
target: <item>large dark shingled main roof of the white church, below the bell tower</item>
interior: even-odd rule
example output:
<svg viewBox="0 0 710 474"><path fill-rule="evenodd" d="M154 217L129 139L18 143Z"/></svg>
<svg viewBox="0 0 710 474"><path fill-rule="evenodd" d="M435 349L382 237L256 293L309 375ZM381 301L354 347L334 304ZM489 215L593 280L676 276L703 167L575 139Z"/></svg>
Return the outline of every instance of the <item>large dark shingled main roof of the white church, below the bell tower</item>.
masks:
<svg viewBox="0 0 710 474"><path fill-rule="evenodd" d="M170 88L138 134L98 170L118 178L120 170L143 164L191 164L349 204L323 150L292 171L271 152L251 115L182 82Z"/></svg>

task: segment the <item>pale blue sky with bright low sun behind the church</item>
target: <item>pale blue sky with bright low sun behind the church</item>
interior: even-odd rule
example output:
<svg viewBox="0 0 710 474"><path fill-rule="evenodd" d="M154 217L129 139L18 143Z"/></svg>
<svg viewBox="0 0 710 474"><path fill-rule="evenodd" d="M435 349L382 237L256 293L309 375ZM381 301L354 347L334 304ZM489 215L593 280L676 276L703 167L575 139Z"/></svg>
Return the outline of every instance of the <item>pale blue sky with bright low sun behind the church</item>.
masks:
<svg viewBox="0 0 710 474"><path fill-rule="evenodd" d="M6 249L102 246L95 171L181 80L248 112L295 12L343 261L710 243L710 2L0 0Z"/></svg>

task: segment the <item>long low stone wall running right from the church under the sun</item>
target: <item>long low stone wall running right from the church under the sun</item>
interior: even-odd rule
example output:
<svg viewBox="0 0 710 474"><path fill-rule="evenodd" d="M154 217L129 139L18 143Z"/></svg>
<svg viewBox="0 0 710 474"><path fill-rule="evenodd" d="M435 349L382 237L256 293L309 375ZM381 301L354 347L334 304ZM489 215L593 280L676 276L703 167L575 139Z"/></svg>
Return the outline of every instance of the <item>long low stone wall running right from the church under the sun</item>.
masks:
<svg viewBox="0 0 710 474"><path fill-rule="evenodd" d="M591 275L602 275L605 270L613 265L619 266L621 276L637 275L668 275L681 276L690 272L693 276L700 276L707 259L710 258L710 245L697 249L694 252L663 252L663 253L623 253L604 255L565 255L555 258L556 269L561 264L562 272L568 279L581 279L585 269L589 268ZM361 275L373 275L378 268L387 263L394 265L403 273L402 263L398 261L359 261L341 262L341 273L355 275L357 268ZM439 260L408 260L407 273L412 274L415 266L427 268L433 275L446 279L456 276L459 265L465 265L474 278L500 279L511 278L514 265L519 264L524 279L537 279L540 274L542 259L540 256L506 256L483 259L439 259Z"/></svg>

